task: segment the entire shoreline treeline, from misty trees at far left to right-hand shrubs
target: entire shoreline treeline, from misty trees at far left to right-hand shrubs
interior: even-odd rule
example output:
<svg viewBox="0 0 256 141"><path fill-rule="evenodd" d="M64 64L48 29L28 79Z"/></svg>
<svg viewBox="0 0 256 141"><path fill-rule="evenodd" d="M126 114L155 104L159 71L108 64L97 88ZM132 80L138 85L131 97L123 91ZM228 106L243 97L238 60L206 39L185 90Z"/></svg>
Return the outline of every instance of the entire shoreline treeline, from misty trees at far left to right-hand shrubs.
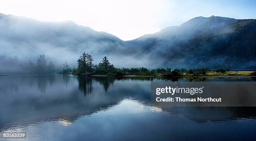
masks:
<svg viewBox="0 0 256 141"><path fill-rule="evenodd" d="M18 57L5 58L0 56L0 73L31 73L31 74L45 74L45 73L60 73L60 74L79 74L79 75L91 75L91 74L110 74L115 76L123 75L163 75L164 77L193 75L202 76L207 72L225 73L229 69L216 69L212 70L207 67L200 69L171 69L171 68L156 68L147 69L145 67L136 68L115 68L108 60L108 57L103 57L99 64L93 64L93 57L88 53L83 53L77 59L77 68L70 69L69 64L65 60L61 67L49 61L47 62L46 56L40 54L35 60L28 60L27 62L19 61Z"/></svg>

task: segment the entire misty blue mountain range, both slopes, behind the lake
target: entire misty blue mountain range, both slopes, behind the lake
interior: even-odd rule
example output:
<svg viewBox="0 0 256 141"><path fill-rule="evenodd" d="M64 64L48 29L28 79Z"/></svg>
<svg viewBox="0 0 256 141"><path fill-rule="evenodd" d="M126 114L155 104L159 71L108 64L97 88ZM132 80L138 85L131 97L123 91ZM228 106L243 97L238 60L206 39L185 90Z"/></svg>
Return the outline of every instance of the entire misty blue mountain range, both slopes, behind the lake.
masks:
<svg viewBox="0 0 256 141"><path fill-rule="evenodd" d="M180 26L123 41L72 21L41 22L0 14L0 66L6 61L47 60L76 65L82 52L97 64L108 56L116 67L256 69L256 20L195 17Z"/></svg>

